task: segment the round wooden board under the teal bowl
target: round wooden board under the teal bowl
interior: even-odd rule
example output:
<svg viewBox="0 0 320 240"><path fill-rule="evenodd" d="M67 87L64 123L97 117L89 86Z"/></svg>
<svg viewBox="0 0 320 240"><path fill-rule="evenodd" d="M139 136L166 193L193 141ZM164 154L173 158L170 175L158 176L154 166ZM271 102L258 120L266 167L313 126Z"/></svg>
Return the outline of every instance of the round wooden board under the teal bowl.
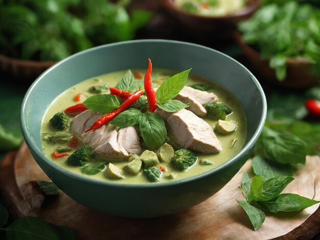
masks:
<svg viewBox="0 0 320 240"><path fill-rule="evenodd" d="M75 229L78 239L310 239L320 231L319 204L301 212L266 216L253 231L236 199L243 200L242 172L251 172L251 161L216 195L184 212L154 219L113 217L75 202L64 193L45 200L33 181L49 180L27 146L9 153L0 165L1 193L14 218L40 216L53 224ZM285 192L320 199L320 158L307 157ZM121 206L115 206L121 207Z"/></svg>

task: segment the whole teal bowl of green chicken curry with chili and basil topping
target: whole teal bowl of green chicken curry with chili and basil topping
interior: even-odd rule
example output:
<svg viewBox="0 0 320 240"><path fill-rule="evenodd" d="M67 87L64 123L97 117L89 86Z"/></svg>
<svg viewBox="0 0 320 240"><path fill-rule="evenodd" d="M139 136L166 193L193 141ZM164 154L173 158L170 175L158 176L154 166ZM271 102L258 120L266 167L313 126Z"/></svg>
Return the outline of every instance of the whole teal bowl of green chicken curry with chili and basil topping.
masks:
<svg viewBox="0 0 320 240"><path fill-rule="evenodd" d="M20 114L33 157L65 194L130 218L213 196L249 158L265 117L264 92L248 69L171 40L72 55L36 79Z"/></svg>

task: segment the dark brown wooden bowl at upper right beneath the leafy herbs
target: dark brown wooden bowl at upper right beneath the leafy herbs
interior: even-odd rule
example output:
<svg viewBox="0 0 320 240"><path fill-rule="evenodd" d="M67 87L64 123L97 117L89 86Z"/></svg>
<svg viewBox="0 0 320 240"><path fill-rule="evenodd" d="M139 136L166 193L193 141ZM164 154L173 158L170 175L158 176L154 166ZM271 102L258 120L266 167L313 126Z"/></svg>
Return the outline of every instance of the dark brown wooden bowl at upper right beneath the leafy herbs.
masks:
<svg viewBox="0 0 320 240"><path fill-rule="evenodd" d="M295 89L309 88L318 83L317 78L310 74L312 64L306 60L294 58L287 59L287 77L282 82L278 81L275 70L269 67L268 60L261 60L260 53L246 44L239 32L234 34L234 38L250 64L263 80L278 86Z"/></svg>

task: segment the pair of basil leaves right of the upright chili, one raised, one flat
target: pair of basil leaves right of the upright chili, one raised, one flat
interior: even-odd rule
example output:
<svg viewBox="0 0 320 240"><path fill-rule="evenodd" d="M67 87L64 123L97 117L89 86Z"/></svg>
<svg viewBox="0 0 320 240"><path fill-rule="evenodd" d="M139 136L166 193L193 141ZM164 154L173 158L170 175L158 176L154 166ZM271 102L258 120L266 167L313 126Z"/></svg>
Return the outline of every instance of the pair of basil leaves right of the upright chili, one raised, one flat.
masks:
<svg viewBox="0 0 320 240"><path fill-rule="evenodd" d="M190 104L172 100L184 88L191 68L166 79L156 91L157 106L167 112L177 112Z"/></svg>

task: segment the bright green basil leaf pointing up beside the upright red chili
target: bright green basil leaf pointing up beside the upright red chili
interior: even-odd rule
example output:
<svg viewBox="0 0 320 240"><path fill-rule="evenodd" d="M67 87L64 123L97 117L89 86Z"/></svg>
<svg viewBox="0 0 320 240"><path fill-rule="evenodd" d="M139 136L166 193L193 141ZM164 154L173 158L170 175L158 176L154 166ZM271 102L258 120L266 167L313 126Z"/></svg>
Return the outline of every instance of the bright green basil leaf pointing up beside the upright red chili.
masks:
<svg viewBox="0 0 320 240"><path fill-rule="evenodd" d="M157 102L165 103L175 98L179 91L184 88L190 71L191 68L166 79L156 90Z"/></svg>

